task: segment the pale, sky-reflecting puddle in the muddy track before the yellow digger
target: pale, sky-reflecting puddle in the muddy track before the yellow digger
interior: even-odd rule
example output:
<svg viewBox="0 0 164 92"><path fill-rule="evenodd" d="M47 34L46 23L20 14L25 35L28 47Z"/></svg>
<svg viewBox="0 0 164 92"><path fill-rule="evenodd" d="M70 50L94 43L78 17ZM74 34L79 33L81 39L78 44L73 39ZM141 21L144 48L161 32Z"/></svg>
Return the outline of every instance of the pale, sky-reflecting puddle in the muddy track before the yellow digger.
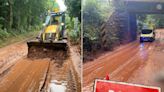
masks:
<svg viewBox="0 0 164 92"><path fill-rule="evenodd" d="M67 81L51 80L48 92L66 92Z"/></svg>

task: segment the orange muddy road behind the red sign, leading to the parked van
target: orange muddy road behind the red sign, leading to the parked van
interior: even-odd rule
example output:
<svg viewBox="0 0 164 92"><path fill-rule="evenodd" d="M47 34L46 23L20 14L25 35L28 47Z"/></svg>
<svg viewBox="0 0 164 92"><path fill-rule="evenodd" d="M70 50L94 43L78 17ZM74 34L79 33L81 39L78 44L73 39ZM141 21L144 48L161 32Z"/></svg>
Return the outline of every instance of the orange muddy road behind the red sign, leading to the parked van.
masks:
<svg viewBox="0 0 164 92"><path fill-rule="evenodd" d="M156 41L120 46L83 65L83 91L93 90L94 79L159 86L164 92L164 30L156 30Z"/></svg>

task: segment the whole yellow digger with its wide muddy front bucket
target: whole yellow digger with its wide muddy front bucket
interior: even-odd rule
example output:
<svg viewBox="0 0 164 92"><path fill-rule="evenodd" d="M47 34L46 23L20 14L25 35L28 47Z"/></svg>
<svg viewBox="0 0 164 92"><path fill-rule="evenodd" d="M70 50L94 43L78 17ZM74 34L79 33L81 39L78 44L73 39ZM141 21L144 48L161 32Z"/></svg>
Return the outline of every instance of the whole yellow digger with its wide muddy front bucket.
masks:
<svg viewBox="0 0 164 92"><path fill-rule="evenodd" d="M66 54L65 12L49 12L39 35L27 45L28 57L54 58Z"/></svg>

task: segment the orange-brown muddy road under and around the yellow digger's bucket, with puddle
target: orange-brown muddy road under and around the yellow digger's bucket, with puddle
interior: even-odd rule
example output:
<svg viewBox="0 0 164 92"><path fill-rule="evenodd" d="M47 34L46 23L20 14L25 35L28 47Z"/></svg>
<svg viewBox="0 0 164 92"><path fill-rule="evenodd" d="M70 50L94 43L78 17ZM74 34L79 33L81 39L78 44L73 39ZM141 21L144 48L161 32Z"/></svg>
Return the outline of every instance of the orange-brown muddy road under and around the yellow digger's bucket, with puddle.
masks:
<svg viewBox="0 0 164 92"><path fill-rule="evenodd" d="M52 60L28 58L26 42L1 48L0 92L80 92L80 56L71 49L67 59Z"/></svg>

